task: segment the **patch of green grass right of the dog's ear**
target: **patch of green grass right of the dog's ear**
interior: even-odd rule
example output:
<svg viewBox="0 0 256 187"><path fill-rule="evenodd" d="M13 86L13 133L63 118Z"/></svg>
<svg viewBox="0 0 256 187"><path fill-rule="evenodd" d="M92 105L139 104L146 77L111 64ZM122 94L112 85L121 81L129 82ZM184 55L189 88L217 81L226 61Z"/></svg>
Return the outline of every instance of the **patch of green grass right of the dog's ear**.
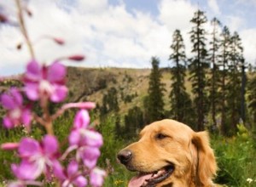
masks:
<svg viewBox="0 0 256 187"><path fill-rule="evenodd" d="M230 139L212 138L212 147L218 160L216 182L228 186L256 186L256 150L253 139L236 136ZM249 184L247 178L253 178Z"/></svg>

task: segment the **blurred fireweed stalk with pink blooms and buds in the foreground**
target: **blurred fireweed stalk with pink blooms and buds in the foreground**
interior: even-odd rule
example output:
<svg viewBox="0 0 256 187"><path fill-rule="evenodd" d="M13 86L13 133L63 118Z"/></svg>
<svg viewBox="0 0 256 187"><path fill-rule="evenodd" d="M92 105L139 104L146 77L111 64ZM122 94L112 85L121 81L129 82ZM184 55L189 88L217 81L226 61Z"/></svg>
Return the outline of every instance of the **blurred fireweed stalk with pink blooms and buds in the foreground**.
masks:
<svg viewBox="0 0 256 187"><path fill-rule="evenodd" d="M3 127L12 129L22 126L26 127L29 133L32 122L37 122L45 128L47 133L39 140L24 137L17 143L1 144L3 150L15 150L20 158L20 163L11 165L11 170L17 179L11 181L8 186L44 186L45 182L53 182L61 187L100 187L106 172L96 167L96 163L101 154L103 139L102 134L90 126L88 112L96 105L92 102L67 103L62 105L55 114L49 112L50 103L60 103L67 98L68 89L65 84L67 69L61 65L60 60L80 61L84 56L76 54L59 58L50 65L41 65L35 59L32 42L27 35L22 16L23 11L27 12L28 8L22 9L19 0L16 0L16 4L21 33L25 37L32 60L28 62L26 72L20 77L23 87L10 88L9 91L0 95L0 104L7 111L3 116ZM32 14L31 11L29 12ZM63 45L64 41L58 38L56 43ZM41 116L33 111L35 102L43 112ZM53 122L64 111L71 108L77 108L79 111L74 117L70 134L67 134L67 150L61 152L58 139L54 134ZM67 167L64 166L64 161ZM43 180L38 181L39 178Z"/></svg>

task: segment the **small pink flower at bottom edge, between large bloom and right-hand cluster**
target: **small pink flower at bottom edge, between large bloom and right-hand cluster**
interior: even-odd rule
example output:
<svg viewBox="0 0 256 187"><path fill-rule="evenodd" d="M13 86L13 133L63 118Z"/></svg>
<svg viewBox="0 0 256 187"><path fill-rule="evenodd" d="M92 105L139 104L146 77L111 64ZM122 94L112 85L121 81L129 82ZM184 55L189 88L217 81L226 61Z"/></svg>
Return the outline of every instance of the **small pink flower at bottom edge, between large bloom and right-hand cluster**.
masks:
<svg viewBox="0 0 256 187"><path fill-rule="evenodd" d="M75 186L84 187L87 185L87 179L79 172L79 164L77 161L70 161L67 171L64 171L61 165L54 168L54 173L61 180L61 187Z"/></svg>

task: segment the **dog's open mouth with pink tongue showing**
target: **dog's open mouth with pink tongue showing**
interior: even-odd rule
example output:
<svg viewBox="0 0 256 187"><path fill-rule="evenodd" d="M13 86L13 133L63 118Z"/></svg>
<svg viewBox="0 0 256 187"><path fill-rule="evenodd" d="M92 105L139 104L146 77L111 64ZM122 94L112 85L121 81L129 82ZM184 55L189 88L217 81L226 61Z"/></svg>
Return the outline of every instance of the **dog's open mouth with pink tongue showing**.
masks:
<svg viewBox="0 0 256 187"><path fill-rule="evenodd" d="M154 187L156 184L170 177L174 171L173 166L164 167L152 173L139 173L131 178L128 187Z"/></svg>

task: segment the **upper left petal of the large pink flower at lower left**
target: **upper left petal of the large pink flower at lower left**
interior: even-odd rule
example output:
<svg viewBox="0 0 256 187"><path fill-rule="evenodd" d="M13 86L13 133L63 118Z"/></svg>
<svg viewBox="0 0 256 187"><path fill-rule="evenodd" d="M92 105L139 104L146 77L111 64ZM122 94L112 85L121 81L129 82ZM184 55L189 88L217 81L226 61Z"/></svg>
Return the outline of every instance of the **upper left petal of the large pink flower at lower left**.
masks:
<svg viewBox="0 0 256 187"><path fill-rule="evenodd" d="M41 151L37 140L31 138L23 138L20 140L19 153L21 157L34 156Z"/></svg>

